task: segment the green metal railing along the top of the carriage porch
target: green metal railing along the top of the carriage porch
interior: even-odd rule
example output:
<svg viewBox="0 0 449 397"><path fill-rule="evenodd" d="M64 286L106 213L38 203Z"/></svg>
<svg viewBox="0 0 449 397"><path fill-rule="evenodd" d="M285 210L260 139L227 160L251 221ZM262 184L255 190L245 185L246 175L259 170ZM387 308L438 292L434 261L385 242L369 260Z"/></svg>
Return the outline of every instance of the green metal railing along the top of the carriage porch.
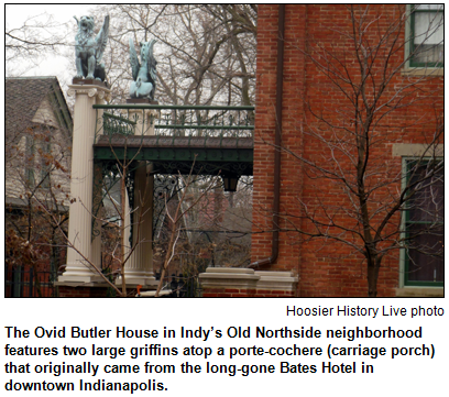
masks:
<svg viewBox="0 0 449 397"><path fill-rule="evenodd" d="M95 104L99 135L251 137L254 107Z"/></svg>

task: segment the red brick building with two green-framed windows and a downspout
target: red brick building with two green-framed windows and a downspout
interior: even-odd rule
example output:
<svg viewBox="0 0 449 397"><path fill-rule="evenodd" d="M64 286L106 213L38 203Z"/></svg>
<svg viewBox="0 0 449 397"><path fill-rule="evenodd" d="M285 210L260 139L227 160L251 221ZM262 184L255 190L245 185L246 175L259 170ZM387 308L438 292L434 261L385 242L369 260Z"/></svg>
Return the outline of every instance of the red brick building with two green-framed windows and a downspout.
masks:
<svg viewBox="0 0 449 397"><path fill-rule="evenodd" d="M442 16L259 5L252 267L296 296L442 296Z"/></svg>

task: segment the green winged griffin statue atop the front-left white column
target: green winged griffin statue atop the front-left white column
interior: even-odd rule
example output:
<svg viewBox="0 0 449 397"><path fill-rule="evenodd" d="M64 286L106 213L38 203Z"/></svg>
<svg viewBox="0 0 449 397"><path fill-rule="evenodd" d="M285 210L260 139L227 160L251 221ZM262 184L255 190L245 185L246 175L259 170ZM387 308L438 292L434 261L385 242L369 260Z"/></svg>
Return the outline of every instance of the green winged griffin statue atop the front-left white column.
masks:
<svg viewBox="0 0 449 397"><path fill-rule="evenodd" d="M96 79L105 81L105 65L101 58L108 42L109 15L106 15L103 25L94 38L94 18L81 16L80 20L74 16L78 24L78 33L75 36L75 78Z"/></svg>

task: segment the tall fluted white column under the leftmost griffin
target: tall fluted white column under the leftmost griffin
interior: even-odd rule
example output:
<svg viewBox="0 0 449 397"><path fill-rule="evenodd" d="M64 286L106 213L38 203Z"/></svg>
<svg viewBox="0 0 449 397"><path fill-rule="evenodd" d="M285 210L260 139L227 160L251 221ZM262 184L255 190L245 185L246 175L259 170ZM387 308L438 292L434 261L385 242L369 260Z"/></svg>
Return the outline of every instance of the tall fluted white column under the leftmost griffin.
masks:
<svg viewBox="0 0 449 397"><path fill-rule="evenodd" d="M92 250L92 145L96 131L96 111L92 106L105 97L109 98L110 90L95 85L73 85L67 93L76 97L70 179L74 202L70 205L68 223L68 240L76 250L67 250L66 271L58 282L89 283L101 279L85 260L95 261L94 265L100 268L98 247Z"/></svg>

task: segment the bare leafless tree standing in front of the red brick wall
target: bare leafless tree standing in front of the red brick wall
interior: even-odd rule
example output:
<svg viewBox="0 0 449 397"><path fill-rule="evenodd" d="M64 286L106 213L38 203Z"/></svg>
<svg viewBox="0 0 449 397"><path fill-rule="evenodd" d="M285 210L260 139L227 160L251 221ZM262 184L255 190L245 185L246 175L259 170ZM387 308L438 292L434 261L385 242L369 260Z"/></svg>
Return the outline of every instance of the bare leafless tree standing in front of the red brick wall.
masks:
<svg viewBox="0 0 449 397"><path fill-rule="evenodd" d="M313 90L327 92L332 103L310 92L305 97L298 128L304 145L319 153L277 147L302 163L315 186L314 194L298 198L299 214L280 213L280 229L297 231L305 241L321 239L324 246L333 242L333 252L346 246L338 251L347 260L363 258L368 296L375 297L388 256L398 261L404 250L412 261L418 254L442 257L442 89L432 69L402 76L420 49L404 57L413 38L404 40L409 15L403 7L381 13L377 7L349 5L347 11L347 27L328 32L332 41L311 35L306 51L297 48L308 74L317 76ZM391 145L410 142L409 136L421 150L402 166L392 159ZM425 224L410 228L406 213L425 218Z"/></svg>

